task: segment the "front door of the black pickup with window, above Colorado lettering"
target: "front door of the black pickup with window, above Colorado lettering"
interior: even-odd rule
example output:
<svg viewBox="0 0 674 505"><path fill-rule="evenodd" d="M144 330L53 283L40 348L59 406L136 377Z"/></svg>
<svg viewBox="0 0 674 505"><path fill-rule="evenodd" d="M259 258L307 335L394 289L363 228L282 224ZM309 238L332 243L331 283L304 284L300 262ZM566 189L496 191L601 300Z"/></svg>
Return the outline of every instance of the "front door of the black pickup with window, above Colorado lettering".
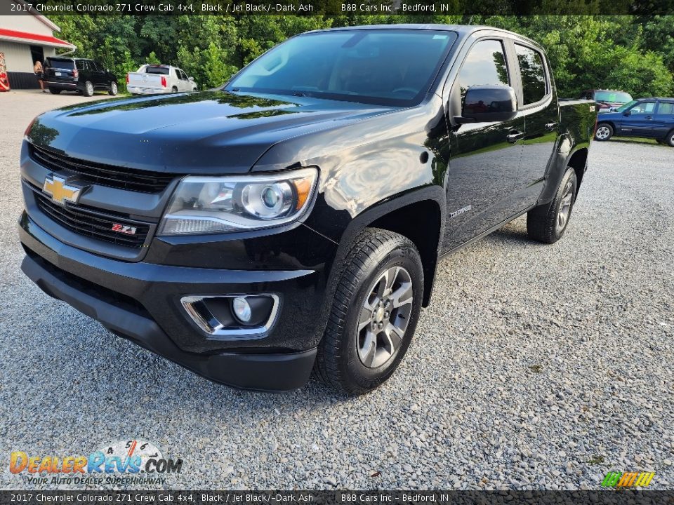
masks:
<svg viewBox="0 0 674 505"><path fill-rule="evenodd" d="M450 94L448 110L461 114L470 86L513 86L513 62L503 41L477 41L466 55ZM515 212L512 194L520 168L524 116L510 121L450 125L444 250L475 238Z"/></svg>

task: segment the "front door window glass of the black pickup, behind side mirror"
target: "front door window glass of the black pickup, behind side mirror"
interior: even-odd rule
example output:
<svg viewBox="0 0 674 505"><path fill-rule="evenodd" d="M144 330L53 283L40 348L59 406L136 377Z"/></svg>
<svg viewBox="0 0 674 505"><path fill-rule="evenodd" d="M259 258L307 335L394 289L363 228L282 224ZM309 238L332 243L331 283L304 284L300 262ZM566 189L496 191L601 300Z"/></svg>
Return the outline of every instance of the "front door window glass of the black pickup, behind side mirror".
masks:
<svg viewBox="0 0 674 505"><path fill-rule="evenodd" d="M461 103L465 90L470 86L510 86L503 43L484 40L470 48L458 74L458 86L461 88Z"/></svg>

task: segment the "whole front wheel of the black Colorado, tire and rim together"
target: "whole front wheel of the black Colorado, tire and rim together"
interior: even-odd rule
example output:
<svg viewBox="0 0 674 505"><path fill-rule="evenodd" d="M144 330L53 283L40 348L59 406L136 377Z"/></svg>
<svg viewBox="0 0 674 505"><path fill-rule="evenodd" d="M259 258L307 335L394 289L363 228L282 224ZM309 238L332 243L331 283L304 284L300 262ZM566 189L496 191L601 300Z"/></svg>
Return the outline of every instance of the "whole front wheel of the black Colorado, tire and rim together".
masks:
<svg viewBox="0 0 674 505"><path fill-rule="evenodd" d="M316 370L329 386L359 395L395 372L414 335L423 298L421 257L408 238L362 231L345 258Z"/></svg>

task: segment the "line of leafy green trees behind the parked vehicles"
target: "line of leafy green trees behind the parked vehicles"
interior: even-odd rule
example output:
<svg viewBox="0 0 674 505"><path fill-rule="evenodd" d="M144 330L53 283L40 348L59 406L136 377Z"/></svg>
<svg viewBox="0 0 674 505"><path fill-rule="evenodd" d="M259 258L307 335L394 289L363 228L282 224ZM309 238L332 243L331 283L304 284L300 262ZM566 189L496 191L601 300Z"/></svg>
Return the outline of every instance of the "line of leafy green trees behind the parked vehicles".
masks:
<svg viewBox="0 0 674 505"><path fill-rule="evenodd" d="M53 15L59 36L119 78L145 63L176 65L199 89L223 84L277 43L311 29L434 22L488 25L529 36L546 48L562 97L621 89L635 97L674 95L671 15Z"/></svg>

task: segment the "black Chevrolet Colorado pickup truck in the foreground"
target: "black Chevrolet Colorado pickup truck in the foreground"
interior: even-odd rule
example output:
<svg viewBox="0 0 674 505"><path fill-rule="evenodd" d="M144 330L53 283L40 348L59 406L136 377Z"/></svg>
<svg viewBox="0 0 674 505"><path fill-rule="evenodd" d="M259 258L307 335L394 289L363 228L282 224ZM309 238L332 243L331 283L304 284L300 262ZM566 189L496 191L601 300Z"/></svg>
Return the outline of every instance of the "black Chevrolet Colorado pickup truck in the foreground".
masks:
<svg viewBox="0 0 674 505"><path fill-rule="evenodd" d="M220 89L37 117L22 269L216 382L289 391L315 369L364 393L402 360L443 256L525 213L532 239L562 237L595 124L514 33L301 34Z"/></svg>

